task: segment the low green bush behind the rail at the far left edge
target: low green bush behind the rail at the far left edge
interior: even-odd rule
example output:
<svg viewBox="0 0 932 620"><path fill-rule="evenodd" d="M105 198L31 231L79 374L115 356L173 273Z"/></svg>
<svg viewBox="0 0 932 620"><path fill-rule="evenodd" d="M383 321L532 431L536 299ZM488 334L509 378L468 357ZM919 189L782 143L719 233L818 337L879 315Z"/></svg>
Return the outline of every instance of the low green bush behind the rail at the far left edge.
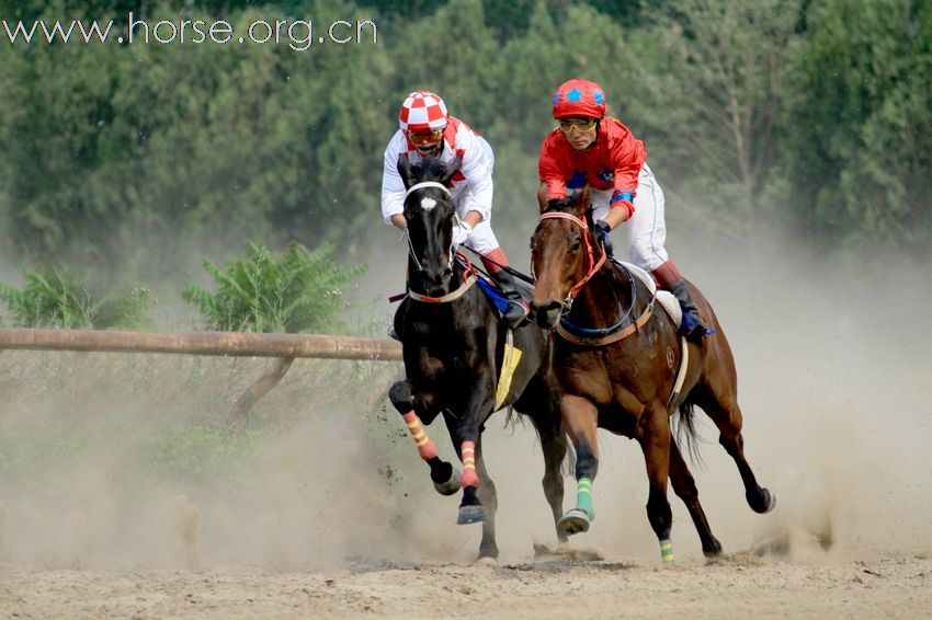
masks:
<svg viewBox="0 0 932 620"><path fill-rule="evenodd" d="M66 269L47 266L22 269L21 289L0 284L0 300L19 328L141 329L151 326L154 303L148 288L96 295Z"/></svg>

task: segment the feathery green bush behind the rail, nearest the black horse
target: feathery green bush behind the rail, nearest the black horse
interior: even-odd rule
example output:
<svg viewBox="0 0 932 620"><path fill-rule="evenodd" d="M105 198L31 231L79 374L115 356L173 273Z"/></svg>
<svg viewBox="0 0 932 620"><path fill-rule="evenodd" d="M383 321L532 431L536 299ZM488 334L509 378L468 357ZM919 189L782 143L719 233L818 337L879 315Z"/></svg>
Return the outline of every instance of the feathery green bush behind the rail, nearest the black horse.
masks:
<svg viewBox="0 0 932 620"><path fill-rule="evenodd" d="M340 332L343 292L365 266L338 266L332 254L329 244L311 252L291 243L276 254L261 242L249 243L245 260L231 256L225 268L204 261L216 292L191 284L182 297L197 306L211 330Z"/></svg>

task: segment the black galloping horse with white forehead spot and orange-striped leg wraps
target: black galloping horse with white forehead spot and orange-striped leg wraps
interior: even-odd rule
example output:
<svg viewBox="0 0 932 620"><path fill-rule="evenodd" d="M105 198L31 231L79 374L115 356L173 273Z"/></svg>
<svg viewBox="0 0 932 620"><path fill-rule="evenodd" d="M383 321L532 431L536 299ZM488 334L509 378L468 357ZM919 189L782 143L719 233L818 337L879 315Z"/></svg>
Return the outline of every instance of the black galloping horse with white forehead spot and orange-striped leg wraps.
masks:
<svg viewBox="0 0 932 620"><path fill-rule="evenodd" d="M453 246L455 207L447 185L459 169L427 158L398 160L407 187L405 219L409 243L408 296L395 315L406 379L391 387L391 404L404 416L431 470L436 490L463 489L458 524L482 521L479 558L497 558L495 483L482 462L481 432L489 416L512 406L527 415L544 452L544 494L554 523L562 508L560 463L567 441L561 430L559 393L546 338L533 324L509 333L493 303L476 283L481 277ZM441 414L463 472L442 460L423 424ZM566 535L557 529L561 542Z"/></svg>

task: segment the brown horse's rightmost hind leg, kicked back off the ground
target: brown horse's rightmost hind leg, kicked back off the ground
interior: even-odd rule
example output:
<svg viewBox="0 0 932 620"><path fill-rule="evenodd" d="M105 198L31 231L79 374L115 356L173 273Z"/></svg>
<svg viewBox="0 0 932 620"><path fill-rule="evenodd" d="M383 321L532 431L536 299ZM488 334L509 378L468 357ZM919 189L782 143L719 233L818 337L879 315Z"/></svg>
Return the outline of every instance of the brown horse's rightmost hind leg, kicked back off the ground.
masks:
<svg viewBox="0 0 932 620"><path fill-rule="evenodd" d="M776 506L776 495L758 484L758 479L745 457L745 438L741 436L743 418L737 400L731 395L716 398L705 387L697 388L696 392L695 404L706 412L718 427L718 443L738 466L748 505L758 514L770 513Z"/></svg>

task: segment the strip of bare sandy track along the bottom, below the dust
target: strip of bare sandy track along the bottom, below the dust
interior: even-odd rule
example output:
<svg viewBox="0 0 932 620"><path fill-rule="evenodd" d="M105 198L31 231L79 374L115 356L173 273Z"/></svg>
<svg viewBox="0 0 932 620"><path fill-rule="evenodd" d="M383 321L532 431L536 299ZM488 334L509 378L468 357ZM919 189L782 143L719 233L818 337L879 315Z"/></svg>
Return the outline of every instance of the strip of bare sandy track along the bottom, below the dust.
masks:
<svg viewBox="0 0 932 620"><path fill-rule="evenodd" d="M357 564L315 573L2 570L7 618L922 618L932 560L832 565L732 556Z"/></svg>

